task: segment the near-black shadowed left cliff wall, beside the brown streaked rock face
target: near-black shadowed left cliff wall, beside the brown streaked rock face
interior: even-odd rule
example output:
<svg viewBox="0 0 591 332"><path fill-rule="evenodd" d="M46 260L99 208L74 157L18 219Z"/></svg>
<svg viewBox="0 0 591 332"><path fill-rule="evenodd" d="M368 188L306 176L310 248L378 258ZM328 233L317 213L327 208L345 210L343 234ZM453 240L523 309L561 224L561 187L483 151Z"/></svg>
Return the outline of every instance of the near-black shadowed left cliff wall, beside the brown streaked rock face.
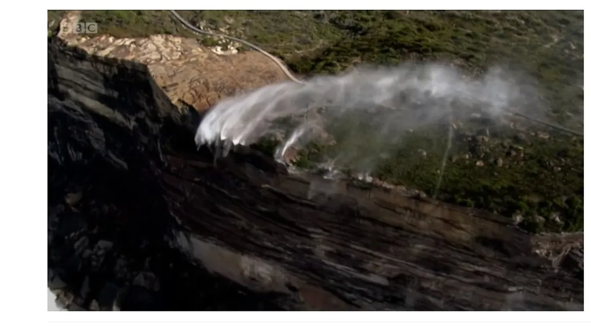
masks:
<svg viewBox="0 0 591 332"><path fill-rule="evenodd" d="M59 301L70 310L277 309L273 294L210 275L168 245L177 224L157 183L158 140L191 129L145 67L59 44L48 56L48 278Z"/></svg>

